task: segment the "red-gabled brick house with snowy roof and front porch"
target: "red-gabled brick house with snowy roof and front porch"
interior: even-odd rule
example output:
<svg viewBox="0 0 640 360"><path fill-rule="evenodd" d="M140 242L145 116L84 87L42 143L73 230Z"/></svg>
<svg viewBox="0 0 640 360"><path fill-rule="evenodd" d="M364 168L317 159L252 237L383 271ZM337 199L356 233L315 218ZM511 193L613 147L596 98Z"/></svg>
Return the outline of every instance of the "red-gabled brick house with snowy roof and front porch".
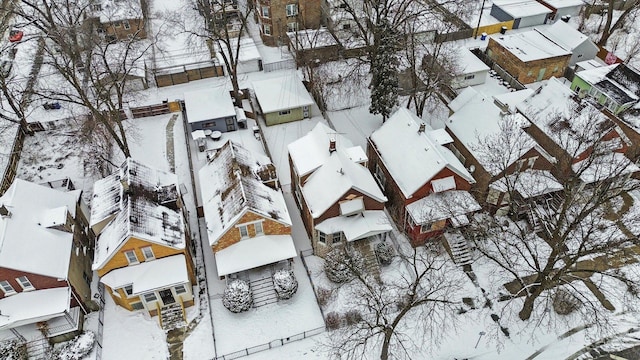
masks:
<svg viewBox="0 0 640 360"><path fill-rule="evenodd" d="M369 137L369 170L413 246L467 224L466 214L480 209L469 193L474 178L446 147L452 142L444 129L432 129L406 108Z"/></svg>

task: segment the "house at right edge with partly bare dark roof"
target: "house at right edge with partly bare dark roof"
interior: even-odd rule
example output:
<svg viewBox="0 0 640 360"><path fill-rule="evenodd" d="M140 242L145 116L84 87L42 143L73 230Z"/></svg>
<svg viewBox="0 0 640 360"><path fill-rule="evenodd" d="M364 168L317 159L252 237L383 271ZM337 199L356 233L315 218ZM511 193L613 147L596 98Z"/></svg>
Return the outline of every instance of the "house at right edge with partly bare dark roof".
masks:
<svg viewBox="0 0 640 360"><path fill-rule="evenodd" d="M588 96L618 115L640 99L640 71L626 64L613 64L576 73L571 89Z"/></svg>

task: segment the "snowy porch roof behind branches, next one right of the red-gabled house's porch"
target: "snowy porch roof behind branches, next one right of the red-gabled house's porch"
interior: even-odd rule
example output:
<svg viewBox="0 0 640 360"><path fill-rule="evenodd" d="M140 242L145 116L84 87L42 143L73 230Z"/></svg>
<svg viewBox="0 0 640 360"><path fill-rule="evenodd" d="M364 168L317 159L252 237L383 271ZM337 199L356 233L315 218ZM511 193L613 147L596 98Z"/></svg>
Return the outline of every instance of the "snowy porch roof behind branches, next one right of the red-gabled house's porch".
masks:
<svg viewBox="0 0 640 360"><path fill-rule="evenodd" d="M523 199L553 193L564 188L549 171L535 169L502 177L489 186L501 192L516 191Z"/></svg>

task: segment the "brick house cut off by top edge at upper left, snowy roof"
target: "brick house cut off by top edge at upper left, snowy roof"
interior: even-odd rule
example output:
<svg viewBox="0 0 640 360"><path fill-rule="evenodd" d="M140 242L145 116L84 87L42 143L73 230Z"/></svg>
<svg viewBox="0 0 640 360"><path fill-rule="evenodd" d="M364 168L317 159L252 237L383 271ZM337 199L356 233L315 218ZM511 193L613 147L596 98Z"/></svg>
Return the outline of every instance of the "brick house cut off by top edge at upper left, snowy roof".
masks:
<svg viewBox="0 0 640 360"><path fill-rule="evenodd" d="M99 0L91 10L99 22L98 33L107 41L147 38L140 0Z"/></svg>

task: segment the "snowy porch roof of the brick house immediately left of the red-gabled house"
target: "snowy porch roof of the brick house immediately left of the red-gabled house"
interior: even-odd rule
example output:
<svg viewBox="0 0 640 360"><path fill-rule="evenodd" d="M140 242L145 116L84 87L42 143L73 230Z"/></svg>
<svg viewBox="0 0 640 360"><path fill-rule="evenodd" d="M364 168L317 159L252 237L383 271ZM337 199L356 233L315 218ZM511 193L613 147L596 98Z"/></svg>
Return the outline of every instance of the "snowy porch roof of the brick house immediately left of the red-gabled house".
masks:
<svg viewBox="0 0 640 360"><path fill-rule="evenodd" d="M347 241L356 241L391 231L391 220L382 210L367 210L353 216L337 216L316 225L325 234L342 231Z"/></svg>

